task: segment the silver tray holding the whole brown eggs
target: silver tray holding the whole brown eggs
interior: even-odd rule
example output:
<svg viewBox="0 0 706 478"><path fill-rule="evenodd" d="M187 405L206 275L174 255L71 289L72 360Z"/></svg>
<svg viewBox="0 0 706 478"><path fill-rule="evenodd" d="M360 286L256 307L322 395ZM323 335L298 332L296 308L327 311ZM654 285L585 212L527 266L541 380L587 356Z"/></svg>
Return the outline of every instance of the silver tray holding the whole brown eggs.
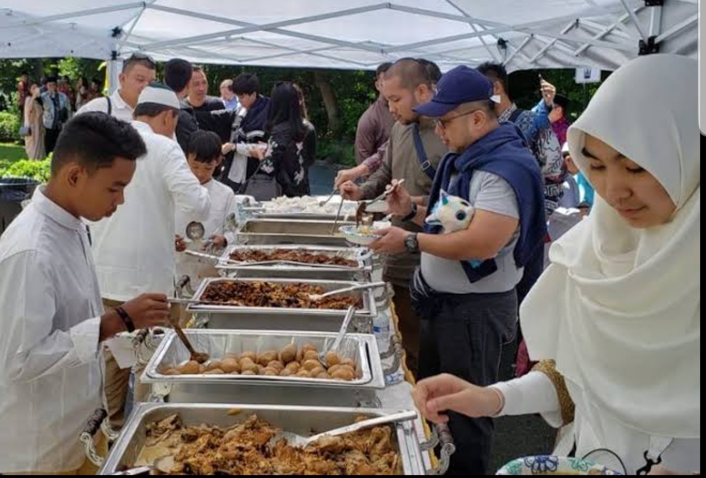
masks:
<svg viewBox="0 0 706 478"><path fill-rule="evenodd" d="M211 358L220 359L226 354L240 354L244 351L261 353L270 350L280 350L289 344L313 344L319 351L333 344L333 333L311 332L272 332L272 331L242 331L242 330L184 330L194 348L207 352ZM280 377L264 375L165 375L167 368L174 368L189 361L189 351L186 350L174 331L167 332L160 346L152 355L145 367L143 383L198 383L217 385L270 385L297 387L327 387L336 389L383 389L385 374L383 371L380 351L375 337L368 334L347 334L341 344L340 354L343 358L352 358L359 369L359 377L345 382L319 378Z"/></svg>

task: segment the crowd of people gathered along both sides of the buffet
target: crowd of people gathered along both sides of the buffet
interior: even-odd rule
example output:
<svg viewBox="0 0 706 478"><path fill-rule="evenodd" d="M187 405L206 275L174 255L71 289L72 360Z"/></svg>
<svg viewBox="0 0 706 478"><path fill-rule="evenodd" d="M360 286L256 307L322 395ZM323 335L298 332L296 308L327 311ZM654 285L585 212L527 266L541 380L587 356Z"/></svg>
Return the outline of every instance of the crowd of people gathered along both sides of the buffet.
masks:
<svg viewBox="0 0 706 478"><path fill-rule="evenodd" d="M392 223L371 248L414 402L453 435L448 474L487 474L493 418L519 414L561 429L563 455L700 470L697 78L690 59L636 59L569 126L547 81L532 110L517 107L502 64L376 71L358 165L335 186L355 201L389 193ZM77 470L103 398L121 426L136 357L115 336L180 320L167 297L189 270L176 253L187 224L225 247L237 194L309 194L316 130L296 83L265 95L240 74L215 98L184 59L156 80L135 54L119 88L72 119L56 83L30 86L25 117L55 144L49 183L0 238L1 473ZM518 376L499 382L513 340Z"/></svg>

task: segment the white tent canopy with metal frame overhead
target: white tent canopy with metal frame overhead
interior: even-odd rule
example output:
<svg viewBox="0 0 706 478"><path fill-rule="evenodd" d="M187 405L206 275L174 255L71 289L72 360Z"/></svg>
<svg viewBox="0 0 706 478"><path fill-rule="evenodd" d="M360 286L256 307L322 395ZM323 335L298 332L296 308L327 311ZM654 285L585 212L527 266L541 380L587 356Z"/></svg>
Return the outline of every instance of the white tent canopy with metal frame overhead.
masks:
<svg viewBox="0 0 706 478"><path fill-rule="evenodd" d="M698 0L3 0L0 58L182 57L374 69L424 57L443 70L616 69L650 37L695 57ZM502 47L505 45L505 47Z"/></svg>

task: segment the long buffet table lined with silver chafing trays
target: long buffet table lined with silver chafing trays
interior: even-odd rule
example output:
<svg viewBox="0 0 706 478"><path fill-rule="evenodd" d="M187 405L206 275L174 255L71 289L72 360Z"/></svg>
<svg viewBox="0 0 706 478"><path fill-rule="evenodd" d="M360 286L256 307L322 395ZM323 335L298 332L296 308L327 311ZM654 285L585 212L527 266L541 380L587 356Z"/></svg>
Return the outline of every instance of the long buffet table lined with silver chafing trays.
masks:
<svg viewBox="0 0 706 478"><path fill-rule="evenodd" d="M291 250L302 247L303 241L303 246L308 252L317 253L311 249L328 247L330 250L324 252L340 255L340 252L332 251L350 246L333 232L332 226L337 222L327 221L325 217L311 221L309 218L296 217L258 218L250 213L245 219L242 216L239 219L238 242L241 248L253 249L259 246L271 252L273 248L289 244ZM292 246L293 240L297 241L296 247ZM223 281L253 284L258 282L256 279L260 274L267 274L265 279L259 279L268 281L265 285L272 283L289 286L297 281L302 284L311 282L326 291L345 284L380 281L381 258L372 257L365 252L363 250L351 256L360 260L352 261L353 270L350 271L342 270L340 266L326 270L325 264L317 266L322 267L319 270L301 264L294 264L294 267L292 264L273 264L273 267L264 269L264 266L258 266L258 274L251 274L247 267L238 267L240 264L235 264L234 267L234 264L229 263L232 262L229 257L234 257L230 255L234 253L231 249L222 256L217 268L217 277L204 279L198 286L195 284L193 287L182 281L181 294L194 294L195 300L203 301L202 294L209 284L220 284ZM299 279L298 267L302 272ZM318 274L340 280L314 279ZM405 366L397 327L398 319L390 293L391 288L388 286L376 293L366 291L351 296L352 300L357 301L358 309L356 320L352 322L349 333L345 336L349 342L346 353L357 360L356 370L359 375L350 382L318 380L309 378L306 374L301 380L298 380L299 377L289 376L273 378L245 377L244 374L208 375L204 368L201 368L200 373L179 376L179 371L167 371L167 366L185 363L189 354L175 339L172 331L161 335L143 332L132 337L139 363L133 368L126 424L121 434L116 436L105 426L104 421L102 426L100 425L102 416L97 416L83 436L89 456L103 465L99 474L114 474L116 470L134 463L136 449L145 440L146 422L163 419L169 412L179 413L185 421L213 418L215 422L220 420L230 423L229 419L224 419L223 416L236 408L256 413L258 417L269 417L273 424L279 424L283 428L301 427L302 423L309 423L309 420L309 429L320 426L323 427L320 431L325 431L330 424L352 420L352 417L358 414L374 416L413 410L411 392L414 379ZM325 344L333 341L334 331L340 327L341 317L345 315L345 310L306 308L297 309L292 313L292 310L277 310L271 307L242 306L240 301L237 305L223 306L213 303L190 304L187 311L191 315L191 328L186 329L187 335L194 342L196 349L201 346L212 354L219 348L221 351L242 352L243 349L250 350L255 346L260 354L263 349L275 348L275 345L282 346L287 340L292 344L296 342L299 346L304 342L313 342L323 349ZM389 339L371 334L373 322L381 320L389 321ZM216 358L220 356L216 355ZM261 368L260 372L262 371ZM270 370L269 374L275 375L272 372ZM308 416L309 419L302 422L302 419L294 419L293 416ZM99 428L107 433L109 438L116 439L105 460L90 450L92 441L88 437ZM398 453L404 465L400 472L442 474L445 471L448 457L454 450L448 429L442 428L431 433L426 423L419 418L412 422L394 424L393 429L397 432ZM438 436L441 436L441 462L437 462L433 453L430 453L430 450L439 444Z"/></svg>

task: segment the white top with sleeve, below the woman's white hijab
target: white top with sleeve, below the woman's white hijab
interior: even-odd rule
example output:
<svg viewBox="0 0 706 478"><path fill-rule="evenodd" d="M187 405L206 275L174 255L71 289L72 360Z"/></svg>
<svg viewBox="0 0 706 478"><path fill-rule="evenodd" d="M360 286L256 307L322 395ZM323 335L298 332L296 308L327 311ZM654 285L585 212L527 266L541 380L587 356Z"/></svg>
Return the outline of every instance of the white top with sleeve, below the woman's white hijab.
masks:
<svg viewBox="0 0 706 478"><path fill-rule="evenodd" d="M566 380L566 386L576 410L573 424L566 433L563 433L563 439L555 450L556 454L566 455L575 443L577 457L588 457L594 462L623 472L613 455L596 452L604 448L611 450L621 457L627 468L627 474L635 474L645 466L645 452L655 461L658 457L662 457L661 466L667 470L687 473L701 470L700 439L650 436L630 429L594 405L590 397L570 380ZM522 378L498 383L493 387L498 388L505 395L505 407L501 415L541 413L551 426L561 426L556 390L543 373L532 372ZM669 390L666 393L669 393ZM621 400L621 398L616 397L615 400Z"/></svg>

